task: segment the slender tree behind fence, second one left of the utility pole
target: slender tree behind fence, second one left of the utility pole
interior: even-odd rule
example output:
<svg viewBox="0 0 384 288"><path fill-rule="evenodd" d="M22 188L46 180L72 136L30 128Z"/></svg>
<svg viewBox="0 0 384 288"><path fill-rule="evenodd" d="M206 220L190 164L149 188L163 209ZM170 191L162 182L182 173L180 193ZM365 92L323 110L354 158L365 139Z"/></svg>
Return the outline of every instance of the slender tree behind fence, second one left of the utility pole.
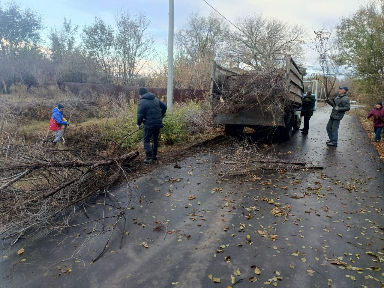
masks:
<svg viewBox="0 0 384 288"><path fill-rule="evenodd" d="M112 82L116 72L113 33L111 25L106 25L97 17L93 24L86 25L83 29L84 49L103 73L103 82L108 84Z"/></svg>

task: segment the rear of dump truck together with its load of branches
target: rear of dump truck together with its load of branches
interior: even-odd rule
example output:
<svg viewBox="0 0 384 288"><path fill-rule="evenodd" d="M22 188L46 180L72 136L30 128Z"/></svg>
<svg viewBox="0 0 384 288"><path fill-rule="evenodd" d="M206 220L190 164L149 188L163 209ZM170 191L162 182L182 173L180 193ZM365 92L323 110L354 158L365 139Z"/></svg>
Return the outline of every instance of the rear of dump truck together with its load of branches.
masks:
<svg viewBox="0 0 384 288"><path fill-rule="evenodd" d="M212 63L211 95L213 122L225 124L226 132L248 127L286 128L282 140L289 140L292 127L300 127L303 101L303 72L288 56L282 68L260 71L227 69Z"/></svg>

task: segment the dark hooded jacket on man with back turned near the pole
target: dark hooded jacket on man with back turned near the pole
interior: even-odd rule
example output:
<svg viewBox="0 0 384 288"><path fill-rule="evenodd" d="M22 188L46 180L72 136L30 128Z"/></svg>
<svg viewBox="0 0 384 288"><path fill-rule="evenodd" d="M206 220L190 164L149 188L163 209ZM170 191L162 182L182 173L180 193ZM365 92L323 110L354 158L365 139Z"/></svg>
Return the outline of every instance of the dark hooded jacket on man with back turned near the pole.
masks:
<svg viewBox="0 0 384 288"><path fill-rule="evenodd" d="M163 117L167 105L157 99L154 94L146 93L137 104L137 125L144 123L144 128L160 129L163 127ZM144 120L144 121L143 121Z"/></svg>

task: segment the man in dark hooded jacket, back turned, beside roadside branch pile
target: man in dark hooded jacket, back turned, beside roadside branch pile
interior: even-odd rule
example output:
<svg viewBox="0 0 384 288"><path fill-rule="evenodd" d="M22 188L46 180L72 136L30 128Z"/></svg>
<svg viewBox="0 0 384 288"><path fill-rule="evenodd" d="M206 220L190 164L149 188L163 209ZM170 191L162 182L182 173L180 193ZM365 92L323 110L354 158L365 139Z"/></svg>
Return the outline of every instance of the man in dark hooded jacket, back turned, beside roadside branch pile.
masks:
<svg viewBox="0 0 384 288"><path fill-rule="evenodd" d="M159 146L160 129L163 127L163 117L167 111L167 105L157 99L154 94L148 93L147 89L139 89L140 100L137 104L137 127L144 123L144 150L146 153L145 163L157 160L157 147ZM152 147L151 142L152 140Z"/></svg>

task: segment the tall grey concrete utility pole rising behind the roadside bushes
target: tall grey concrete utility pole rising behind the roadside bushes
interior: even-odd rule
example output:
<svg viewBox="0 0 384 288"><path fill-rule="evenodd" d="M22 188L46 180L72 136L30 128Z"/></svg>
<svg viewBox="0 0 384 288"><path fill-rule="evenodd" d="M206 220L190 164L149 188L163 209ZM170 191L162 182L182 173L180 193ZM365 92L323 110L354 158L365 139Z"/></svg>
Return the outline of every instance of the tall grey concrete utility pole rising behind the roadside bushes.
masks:
<svg viewBox="0 0 384 288"><path fill-rule="evenodd" d="M168 85L167 85L167 107L172 108L173 102L173 15L175 0L169 0L168 18Z"/></svg>

